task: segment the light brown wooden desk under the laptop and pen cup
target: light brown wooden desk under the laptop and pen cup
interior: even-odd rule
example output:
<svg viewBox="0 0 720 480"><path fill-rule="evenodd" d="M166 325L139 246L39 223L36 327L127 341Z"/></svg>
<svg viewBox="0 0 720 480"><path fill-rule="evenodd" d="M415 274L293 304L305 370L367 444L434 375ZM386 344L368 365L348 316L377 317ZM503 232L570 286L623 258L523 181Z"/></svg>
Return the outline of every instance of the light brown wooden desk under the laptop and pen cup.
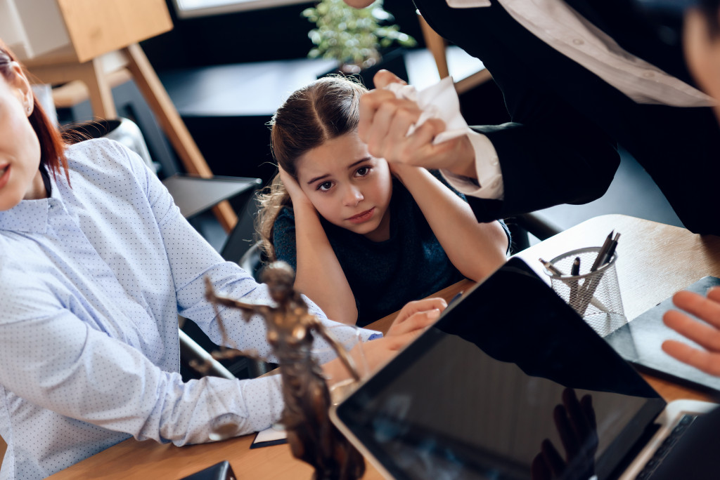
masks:
<svg viewBox="0 0 720 480"><path fill-rule="evenodd" d="M544 277L539 257L584 246L598 246L611 230L621 233L618 243L618 280L625 313L635 318L673 292L706 275L720 277L720 237L699 236L685 229L621 215L608 215L580 223L518 254ZM472 286L464 281L441 292L449 299ZM518 292L521 295L521 292ZM385 331L392 315L372 324ZM644 375L667 401L678 398L710 400L706 394ZM125 479L143 476L155 480L179 479L222 460L235 474L247 479L310 479L312 469L295 460L287 445L250 450L253 435L220 443L175 447L125 440L95 456L51 476L60 479ZM368 464L365 479L381 479Z"/></svg>

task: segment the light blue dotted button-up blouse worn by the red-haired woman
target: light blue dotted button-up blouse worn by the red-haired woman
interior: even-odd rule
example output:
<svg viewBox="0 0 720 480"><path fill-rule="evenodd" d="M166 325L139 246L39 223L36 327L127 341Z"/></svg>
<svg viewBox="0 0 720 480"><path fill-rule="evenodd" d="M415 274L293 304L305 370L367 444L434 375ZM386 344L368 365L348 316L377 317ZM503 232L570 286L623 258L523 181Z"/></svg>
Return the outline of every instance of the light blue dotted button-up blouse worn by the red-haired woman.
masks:
<svg viewBox="0 0 720 480"><path fill-rule="evenodd" d="M72 188L58 175L50 198L0 212L0 479L40 479L130 436L206 442L217 417L238 435L269 427L279 376L182 382L177 321L219 343L204 275L244 301L269 303L266 287L222 260L140 157L107 139L67 152ZM273 360L261 318L222 317L239 349Z"/></svg>

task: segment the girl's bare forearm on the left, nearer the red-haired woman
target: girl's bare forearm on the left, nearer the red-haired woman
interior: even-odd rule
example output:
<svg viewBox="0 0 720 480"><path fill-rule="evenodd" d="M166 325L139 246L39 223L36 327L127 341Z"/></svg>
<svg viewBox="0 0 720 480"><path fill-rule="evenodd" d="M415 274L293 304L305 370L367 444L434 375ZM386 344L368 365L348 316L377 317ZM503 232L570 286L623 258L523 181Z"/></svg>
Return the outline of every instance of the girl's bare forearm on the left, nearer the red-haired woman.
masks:
<svg viewBox="0 0 720 480"><path fill-rule="evenodd" d="M282 169L280 178L290 194L295 215L295 290L307 295L328 318L354 325L358 318L355 296L320 223L318 211L300 190L300 185Z"/></svg>

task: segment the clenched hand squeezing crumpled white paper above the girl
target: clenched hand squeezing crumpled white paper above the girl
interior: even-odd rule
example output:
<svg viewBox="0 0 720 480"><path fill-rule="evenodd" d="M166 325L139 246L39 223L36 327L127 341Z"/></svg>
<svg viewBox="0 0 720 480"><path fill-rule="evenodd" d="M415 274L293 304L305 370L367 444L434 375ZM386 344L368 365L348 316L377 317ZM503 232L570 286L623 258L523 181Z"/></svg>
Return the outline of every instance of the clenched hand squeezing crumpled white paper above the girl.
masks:
<svg viewBox="0 0 720 480"><path fill-rule="evenodd" d="M474 149L467 135L433 145L433 139L445 130L440 119L428 119L413 134L408 129L423 111L414 101L397 98L384 87L405 83L387 70L380 70L373 81L375 88L360 100L358 134L373 157L431 169L444 168L458 175L474 177Z"/></svg>

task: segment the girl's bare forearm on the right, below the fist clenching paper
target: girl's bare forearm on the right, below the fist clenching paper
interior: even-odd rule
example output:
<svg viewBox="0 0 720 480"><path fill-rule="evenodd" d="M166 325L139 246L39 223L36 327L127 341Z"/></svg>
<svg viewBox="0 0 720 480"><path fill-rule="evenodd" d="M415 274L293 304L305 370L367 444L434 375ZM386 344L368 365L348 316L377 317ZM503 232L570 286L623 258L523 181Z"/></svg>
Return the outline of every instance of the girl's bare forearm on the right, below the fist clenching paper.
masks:
<svg viewBox="0 0 720 480"><path fill-rule="evenodd" d="M477 282L505 263L508 236L500 223L478 223L468 204L428 170L398 164L390 168L413 195L460 273Z"/></svg>

